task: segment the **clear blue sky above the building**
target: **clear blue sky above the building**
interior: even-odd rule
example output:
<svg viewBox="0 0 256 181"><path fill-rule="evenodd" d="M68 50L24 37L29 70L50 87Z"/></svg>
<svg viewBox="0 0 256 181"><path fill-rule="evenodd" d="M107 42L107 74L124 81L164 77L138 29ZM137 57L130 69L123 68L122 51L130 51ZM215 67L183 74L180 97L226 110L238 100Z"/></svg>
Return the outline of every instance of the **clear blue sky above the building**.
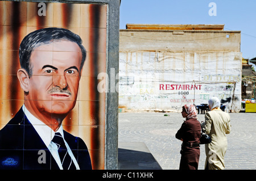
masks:
<svg viewBox="0 0 256 181"><path fill-rule="evenodd" d="M216 16L209 15L210 2L216 5ZM120 29L127 23L225 24L224 30L241 31L243 58L256 57L255 0L122 0Z"/></svg>

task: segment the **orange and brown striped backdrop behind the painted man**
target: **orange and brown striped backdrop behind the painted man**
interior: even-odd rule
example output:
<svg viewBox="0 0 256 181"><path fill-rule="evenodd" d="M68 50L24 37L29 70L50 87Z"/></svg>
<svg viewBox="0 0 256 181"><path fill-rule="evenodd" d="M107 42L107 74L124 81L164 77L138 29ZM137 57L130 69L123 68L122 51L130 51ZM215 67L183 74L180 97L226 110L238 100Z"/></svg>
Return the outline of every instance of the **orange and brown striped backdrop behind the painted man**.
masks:
<svg viewBox="0 0 256 181"><path fill-rule="evenodd" d="M38 2L0 2L1 129L24 103L24 92L16 75L20 68L19 44L24 36L32 31L48 27L68 29L81 37L82 45L86 49L86 60L81 72L75 107L63 120L63 128L84 140L88 146L93 169L104 169L106 100L105 92L97 90L99 82L97 76L99 73L106 73L107 5L71 3L44 3L44 5L39 6ZM41 9L44 7L45 9ZM46 16L39 15L43 13L43 10L45 10ZM66 49L70 53L71 47L66 47ZM67 52L51 53L47 49L42 53L48 53L48 58L53 60L52 65L54 65L54 54L63 55ZM51 64L51 62L48 63ZM38 80L39 77L42 80L45 78L44 75L32 74L32 77L36 76L38 76ZM61 77L64 75L56 76L60 77L52 76L52 80L65 79L65 77ZM35 99L34 102L43 104L45 101ZM51 105L51 103L49 104Z"/></svg>

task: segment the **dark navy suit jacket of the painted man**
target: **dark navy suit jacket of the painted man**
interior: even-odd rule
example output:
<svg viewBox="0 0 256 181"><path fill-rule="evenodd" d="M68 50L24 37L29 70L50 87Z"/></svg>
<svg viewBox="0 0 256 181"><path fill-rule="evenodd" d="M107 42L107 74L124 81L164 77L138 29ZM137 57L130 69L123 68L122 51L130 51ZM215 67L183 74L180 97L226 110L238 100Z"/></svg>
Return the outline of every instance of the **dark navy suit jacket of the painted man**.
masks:
<svg viewBox="0 0 256 181"><path fill-rule="evenodd" d="M84 141L66 131L64 137L80 169L91 170L90 155ZM42 163L44 153L46 163ZM28 121L22 108L0 131L0 169L59 170L51 152Z"/></svg>

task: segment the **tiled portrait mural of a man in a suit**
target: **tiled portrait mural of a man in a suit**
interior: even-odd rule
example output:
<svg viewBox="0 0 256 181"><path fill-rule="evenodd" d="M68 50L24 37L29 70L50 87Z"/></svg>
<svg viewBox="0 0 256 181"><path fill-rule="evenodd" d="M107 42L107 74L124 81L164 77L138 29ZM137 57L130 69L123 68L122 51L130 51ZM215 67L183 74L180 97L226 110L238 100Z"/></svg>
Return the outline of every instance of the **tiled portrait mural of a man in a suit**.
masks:
<svg viewBox="0 0 256 181"><path fill-rule="evenodd" d="M104 169L107 5L0 1L0 169Z"/></svg>

